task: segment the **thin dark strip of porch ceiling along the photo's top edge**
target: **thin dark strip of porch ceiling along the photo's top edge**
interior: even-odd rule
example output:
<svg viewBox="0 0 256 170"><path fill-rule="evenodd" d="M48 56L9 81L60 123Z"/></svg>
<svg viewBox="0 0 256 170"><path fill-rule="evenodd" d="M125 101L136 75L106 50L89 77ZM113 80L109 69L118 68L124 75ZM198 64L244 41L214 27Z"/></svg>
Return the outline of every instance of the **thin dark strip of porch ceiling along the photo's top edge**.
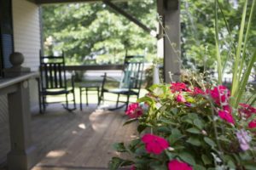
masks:
<svg viewBox="0 0 256 170"><path fill-rule="evenodd" d="M32 0L37 4L46 4L46 3L95 3L102 2L102 0ZM125 2L131 0L109 0L110 2ZM133 0L134 1L134 0Z"/></svg>

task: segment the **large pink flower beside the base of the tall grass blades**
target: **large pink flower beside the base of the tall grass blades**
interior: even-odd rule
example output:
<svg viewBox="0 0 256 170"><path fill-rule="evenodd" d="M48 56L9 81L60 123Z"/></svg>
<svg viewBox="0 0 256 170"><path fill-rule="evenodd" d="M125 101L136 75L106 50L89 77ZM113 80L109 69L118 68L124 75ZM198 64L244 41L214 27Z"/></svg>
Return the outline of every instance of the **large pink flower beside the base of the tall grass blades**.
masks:
<svg viewBox="0 0 256 170"><path fill-rule="evenodd" d="M218 86L209 91L212 99L217 105L228 105L230 90L224 86Z"/></svg>

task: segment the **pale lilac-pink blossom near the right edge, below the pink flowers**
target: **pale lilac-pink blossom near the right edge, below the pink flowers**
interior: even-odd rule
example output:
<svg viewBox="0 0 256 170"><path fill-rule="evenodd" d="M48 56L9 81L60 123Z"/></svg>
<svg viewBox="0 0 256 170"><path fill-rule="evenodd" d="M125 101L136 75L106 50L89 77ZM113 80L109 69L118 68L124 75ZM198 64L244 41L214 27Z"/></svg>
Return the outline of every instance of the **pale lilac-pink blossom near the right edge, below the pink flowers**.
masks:
<svg viewBox="0 0 256 170"><path fill-rule="evenodd" d="M248 135L247 131L241 129L236 133L236 138L238 139L241 150L245 151L250 149L249 143L251 142L252 137Z"/></svg>

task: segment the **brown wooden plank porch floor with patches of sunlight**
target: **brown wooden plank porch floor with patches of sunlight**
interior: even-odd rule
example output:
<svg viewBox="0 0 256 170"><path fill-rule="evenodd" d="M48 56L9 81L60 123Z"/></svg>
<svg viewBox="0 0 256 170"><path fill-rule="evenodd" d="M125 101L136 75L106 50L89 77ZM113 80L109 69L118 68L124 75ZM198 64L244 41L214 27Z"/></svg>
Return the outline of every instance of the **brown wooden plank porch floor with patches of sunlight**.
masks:
<svg viewBox="0 0 256 170"><path fill-rule="evenodd" d="M108 169L110 158L119 154L112 144L136 138L134 124L123 127L124 111L94 106L84 110L69 113L58 105L32 116L32 139L39 157L32 170Z"/></svg>

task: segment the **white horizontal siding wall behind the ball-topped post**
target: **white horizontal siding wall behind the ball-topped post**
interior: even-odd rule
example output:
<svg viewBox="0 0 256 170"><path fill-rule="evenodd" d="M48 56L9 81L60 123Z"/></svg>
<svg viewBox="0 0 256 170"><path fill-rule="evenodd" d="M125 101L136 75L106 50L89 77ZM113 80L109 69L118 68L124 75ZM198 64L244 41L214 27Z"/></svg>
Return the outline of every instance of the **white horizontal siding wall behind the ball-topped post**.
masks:
<svg viewBox="0 0 256 170"><path fill-rule="evenodd" d="M40 24L38 5L27 0L13 0L15 51L24 54L22 66L38 71L40 49ZM30 81L30 103L38 110L38 84Z"/></svg>

